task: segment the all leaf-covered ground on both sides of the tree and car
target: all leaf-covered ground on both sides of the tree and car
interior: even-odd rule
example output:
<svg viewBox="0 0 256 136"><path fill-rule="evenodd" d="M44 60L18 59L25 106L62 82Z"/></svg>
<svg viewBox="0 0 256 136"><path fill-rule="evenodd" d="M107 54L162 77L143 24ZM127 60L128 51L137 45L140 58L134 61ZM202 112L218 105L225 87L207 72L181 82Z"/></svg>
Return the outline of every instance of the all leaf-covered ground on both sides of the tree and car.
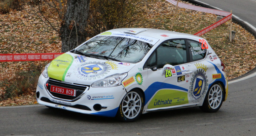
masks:
<svg viewBox="0 0 256 136"><path fill-rule="evenodd" d="M133 27L157 28L194 34L216 22L217 15L178 8L173 28L175 6L165 0L146 3L147 13ZM25 9L29 9L26 7ZM55 22L52 22L55 23ZM229 42L230 21L202 35L226 66L228 79L239 77L255 68L256 40L251 33L238 24L232 23L236 31L235 40ZM0 14L0 54L7 53L50 53L61 51L58 33L48 28L38 17L13 10ZM31 65L41 65L42 61L1 62L0 80L15 77L16 71L27 70ZM35 91L0 101L0 106L36 104ZM0 88L0 96L4 92Z"/></svg>

